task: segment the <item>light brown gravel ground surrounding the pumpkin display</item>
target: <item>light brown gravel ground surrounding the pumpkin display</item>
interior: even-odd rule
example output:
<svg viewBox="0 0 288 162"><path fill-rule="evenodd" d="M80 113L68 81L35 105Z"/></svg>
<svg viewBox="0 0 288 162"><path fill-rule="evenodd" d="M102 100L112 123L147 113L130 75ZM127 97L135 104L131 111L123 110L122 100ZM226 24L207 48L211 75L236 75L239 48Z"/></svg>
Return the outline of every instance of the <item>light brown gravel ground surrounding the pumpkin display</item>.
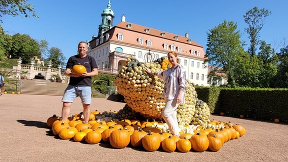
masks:
<svg viewBox="0 0 288 162"><path fill-rule="evenodd" d="M127 146L87 144L63 140L46 127L53 114L60 115L61 96L4 94L0 97L0 161L288 161L288 125L211 115L246 128L246 134L224 143L217 152L153 152ZM125 103L93 98L91 110L119 110ZM70 114L82 111L79 98Z"/></svg>

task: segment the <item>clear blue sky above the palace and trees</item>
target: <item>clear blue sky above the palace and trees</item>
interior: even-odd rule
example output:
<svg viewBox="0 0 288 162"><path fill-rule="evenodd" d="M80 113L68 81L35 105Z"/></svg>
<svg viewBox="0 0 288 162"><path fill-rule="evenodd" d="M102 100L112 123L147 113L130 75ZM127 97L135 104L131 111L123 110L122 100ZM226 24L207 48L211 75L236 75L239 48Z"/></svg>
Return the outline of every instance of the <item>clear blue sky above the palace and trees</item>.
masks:
<svg viewBox="0 0 288 162"><path fill-rule="evenodd" d="M257 6L271 11L260 30L260 39L270 43L279 52L288 39L286 7L288 0L110 0L114 12L113 25L125 15L126 21L184 36L201 44L206 50L207 32L223 22L237 23L247 41L243 15ZM8 34L28 34L39 41L48 41L48 47L57 47L66 58L76 54L77 43L90 40L98 33L101 13L108 0L28 0L39 18L4 15L1 26ZM286 42L287 45L287 42ZM257 50L256 52L258 52Z"/></svg>

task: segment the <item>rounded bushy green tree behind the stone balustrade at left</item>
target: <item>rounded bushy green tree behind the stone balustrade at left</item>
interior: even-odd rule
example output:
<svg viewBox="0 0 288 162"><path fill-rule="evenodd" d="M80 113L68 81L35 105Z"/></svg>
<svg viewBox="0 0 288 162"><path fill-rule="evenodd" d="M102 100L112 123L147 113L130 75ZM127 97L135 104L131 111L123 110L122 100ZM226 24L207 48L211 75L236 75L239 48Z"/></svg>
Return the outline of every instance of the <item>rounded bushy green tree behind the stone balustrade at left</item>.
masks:
<svg viewBox="0 0 288 162"><path fill-rule="evenodd" d="M27 34L12 35L12 47L8 52L11 58L22 58L23 64L30 63L31 58L41 55L39 44Z"/></svg>

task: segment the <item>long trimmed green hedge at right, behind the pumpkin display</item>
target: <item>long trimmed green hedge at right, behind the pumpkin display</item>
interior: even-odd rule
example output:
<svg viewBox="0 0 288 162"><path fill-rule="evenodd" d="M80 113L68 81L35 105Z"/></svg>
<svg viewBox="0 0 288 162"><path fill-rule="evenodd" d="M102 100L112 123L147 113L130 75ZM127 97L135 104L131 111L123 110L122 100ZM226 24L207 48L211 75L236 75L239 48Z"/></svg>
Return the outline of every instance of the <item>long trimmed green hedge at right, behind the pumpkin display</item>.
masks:
<svg viewBox="0 0 288 162"><path fill-rule="evenodd" d="M288 122L288 89L195 87L211 113Z"/></svg>

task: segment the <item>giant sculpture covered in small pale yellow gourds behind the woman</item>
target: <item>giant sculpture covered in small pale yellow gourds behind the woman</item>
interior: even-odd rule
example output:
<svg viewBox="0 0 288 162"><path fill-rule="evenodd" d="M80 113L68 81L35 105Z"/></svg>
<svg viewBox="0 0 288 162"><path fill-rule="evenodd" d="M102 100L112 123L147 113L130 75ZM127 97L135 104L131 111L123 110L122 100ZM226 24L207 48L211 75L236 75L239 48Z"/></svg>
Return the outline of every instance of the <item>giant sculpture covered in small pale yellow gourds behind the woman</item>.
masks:
<svg viewBox="0 0 288 162"><path fill-rule="evenodd" d="M164 60L164 61L163 61ZM162 62L164 67L162 67ZM162 119L161 111L165 106L162 97L164 82L161 78L145 72L144 67L151 71L160 71L167 66L164 57L153 62L139 62L128 58L125 66L117 75L114 84L118 93L124 96L127 105L145 118ZM205 102L197 99L195 87L186 80L185 103L177 108L177 120L180 125L205 125L209 121L210 111Z"/></svg>

